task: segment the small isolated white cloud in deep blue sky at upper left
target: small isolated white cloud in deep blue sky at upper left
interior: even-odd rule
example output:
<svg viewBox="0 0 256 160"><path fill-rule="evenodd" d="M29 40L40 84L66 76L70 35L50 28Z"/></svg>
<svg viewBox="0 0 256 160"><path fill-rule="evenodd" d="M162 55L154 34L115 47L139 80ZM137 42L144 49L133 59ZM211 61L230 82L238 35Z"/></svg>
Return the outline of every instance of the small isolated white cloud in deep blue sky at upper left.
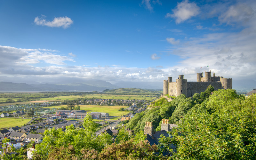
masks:
<svg viewBox="0 0 256 160"><path fill-rule="evenodd" d="M45 20L46 16L36 17L34 23L39 26L68 28L73 23L69 17L55 17L52 21Z"/></svg>

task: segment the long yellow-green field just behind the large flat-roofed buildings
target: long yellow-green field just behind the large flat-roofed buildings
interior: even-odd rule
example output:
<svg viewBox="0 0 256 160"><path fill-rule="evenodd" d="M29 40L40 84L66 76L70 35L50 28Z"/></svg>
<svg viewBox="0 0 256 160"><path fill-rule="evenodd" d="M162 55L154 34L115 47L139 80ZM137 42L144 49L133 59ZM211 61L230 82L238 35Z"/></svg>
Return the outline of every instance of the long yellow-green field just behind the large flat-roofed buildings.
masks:
<svg viewBox="0 0 256 160"><path fill-rule="evenodd" d="M76 106L76 105L75 105ZM129 111L118 111L120 108L127 108L127 106L97 106L97 105L79 105L80 109L86 110L87 112L108 112L109 116L123 116L129 113ZM44 108L61 108L67 107L67 105L60 106L49 106Z"/></svg>

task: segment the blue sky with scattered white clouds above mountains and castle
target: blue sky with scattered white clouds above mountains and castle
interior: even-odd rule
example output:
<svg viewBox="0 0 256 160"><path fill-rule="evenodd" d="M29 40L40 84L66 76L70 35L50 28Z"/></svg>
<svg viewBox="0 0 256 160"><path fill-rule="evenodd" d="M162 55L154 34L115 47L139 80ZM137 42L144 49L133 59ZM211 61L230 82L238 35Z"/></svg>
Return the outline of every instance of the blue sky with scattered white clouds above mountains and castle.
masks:
<svg viewBox="0 0 256 160"><path fill-rule="evenodd" d="M255 11L255 0L0 0L0 82L256 80Z"/></svg>

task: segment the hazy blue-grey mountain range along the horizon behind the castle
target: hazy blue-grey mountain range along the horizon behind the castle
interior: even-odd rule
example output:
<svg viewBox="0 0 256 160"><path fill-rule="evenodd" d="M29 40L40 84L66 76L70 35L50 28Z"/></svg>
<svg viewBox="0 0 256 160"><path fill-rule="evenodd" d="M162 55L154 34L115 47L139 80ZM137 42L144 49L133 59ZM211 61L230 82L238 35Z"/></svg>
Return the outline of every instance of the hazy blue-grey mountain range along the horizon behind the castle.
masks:
<svg viewBox="0 0 256 160"><path fill-rule="evenodd" d="M27 84L0 82L0 91L99 91L116 88L163 89L163 82L118 82L111 84L102 80L87 80L68 84ZM232 88L237 92L250 92L256 88L255 80L233 80Z"/></svg>

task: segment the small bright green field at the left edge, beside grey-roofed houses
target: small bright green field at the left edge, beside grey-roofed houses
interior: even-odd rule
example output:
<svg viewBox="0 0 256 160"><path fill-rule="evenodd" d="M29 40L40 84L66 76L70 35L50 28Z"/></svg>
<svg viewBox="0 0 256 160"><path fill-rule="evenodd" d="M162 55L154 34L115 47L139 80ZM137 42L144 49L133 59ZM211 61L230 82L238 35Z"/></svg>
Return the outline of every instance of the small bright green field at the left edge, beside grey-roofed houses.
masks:
<svg viewBox="0 0 256 160"><path fill-rule="evenodd" d="M0 118L0 129L12 128L15 126L21 126L28 123L30 119L22 118Z"/></svg>

